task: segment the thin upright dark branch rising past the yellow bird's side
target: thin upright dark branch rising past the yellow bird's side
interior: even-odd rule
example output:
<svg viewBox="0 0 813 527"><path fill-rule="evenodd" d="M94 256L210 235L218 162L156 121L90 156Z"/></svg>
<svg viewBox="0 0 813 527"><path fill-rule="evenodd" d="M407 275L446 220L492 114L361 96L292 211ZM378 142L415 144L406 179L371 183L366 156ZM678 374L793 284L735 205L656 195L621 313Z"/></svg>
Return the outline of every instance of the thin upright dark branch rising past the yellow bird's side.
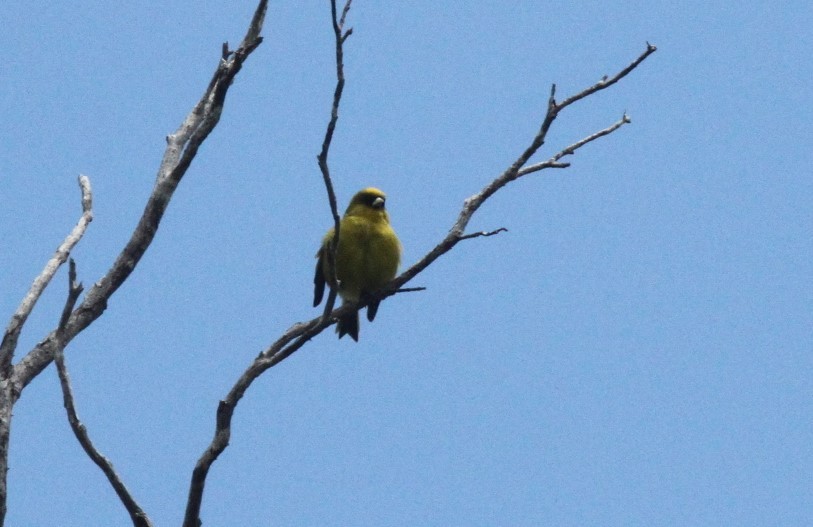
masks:
<svg viewBox="0 0 813 527"><path fill-rule="evenodd" d="M330 0L330 14L333 20L333 35L336 42L336 89L333 91L333 105L330 109L330 121L327 124L325 131L325 138L322 141L322 151L319 152L317 160L319 162L319 170L322 172L322 179L325 183L327 190L327 199L330 204L330 212L333 215L333 240L330 244L330 251L327 254L328 267L333 271L333 283L338 283L336 277L336 250L339 247L339 236L341 235L341 218L339 217L339 208L336 203L336 192L333 190L333 181L330 179L330 168L327 164L327 156L330 151L330 144L333 141L333 132L336 130L336 123L339 120L339 104L342 100L342 92L344 91L344 41L353 33L353 28L344 31L344 22L347 18L347 13L350 11L350 4L352 0L347 0L342 9L341 18L336 18L336 0ZM325 302L325 309L323 316L333 311L333 306L336 303L336 292L331 288L328 293L327 302Z"/></svg>

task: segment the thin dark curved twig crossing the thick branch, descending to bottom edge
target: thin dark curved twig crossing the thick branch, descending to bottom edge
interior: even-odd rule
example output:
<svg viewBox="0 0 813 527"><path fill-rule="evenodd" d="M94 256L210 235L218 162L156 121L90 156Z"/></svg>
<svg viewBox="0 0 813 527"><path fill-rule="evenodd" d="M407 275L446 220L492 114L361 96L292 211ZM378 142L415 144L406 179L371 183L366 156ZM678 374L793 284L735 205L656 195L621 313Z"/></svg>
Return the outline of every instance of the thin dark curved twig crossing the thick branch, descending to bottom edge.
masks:
<svg viewBox="0 0 813 527"><path fill-rule="evenodd" d="M63 351L65 348L65 326L71 316L73 307L76 305L76 301L79 299L79 295L82 293L82 289L82 284L76 281L76 263L73 261L73 258L71 258L68 269L68 298L65 301L65 308L62 310L62 317L59 321L59 327L56 330L57 346L54 353L54 362L56 363L57 373L59 374L59 383L62 386L62 402L68 414L68 422L71 425L71 430L73 430L77 441L82 445L82 449L84 449L88 457L90 457L102 470L104 475L107 476L107 480L110 482L116 495L121 500L124 508L127 509L133 526L152 527L152 522L149 517L147 517L144 510L136 503L130 491L121 481L121 478L113 468L113 464L93 445L87 428L82 424L82 421L76 413L71 379L68 375L68 368L65 365L65 354Z"/></svg>

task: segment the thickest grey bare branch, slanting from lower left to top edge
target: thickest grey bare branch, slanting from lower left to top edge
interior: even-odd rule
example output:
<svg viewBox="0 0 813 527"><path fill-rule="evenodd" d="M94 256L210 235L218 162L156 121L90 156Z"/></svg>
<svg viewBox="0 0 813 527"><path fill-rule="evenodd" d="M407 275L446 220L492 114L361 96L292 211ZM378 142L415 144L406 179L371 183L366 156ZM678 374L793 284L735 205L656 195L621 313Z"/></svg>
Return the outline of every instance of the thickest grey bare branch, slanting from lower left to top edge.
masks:
<svg viewBox="0 0 813 527"><path fill-rule="evenodd" d="M110 297L127 280L152 243L175 189L195 158L198 148L220 120L226 93L234 77L251 52L262 43L260 33L267 6L267 0L260 0L237 50L229 52L228 45L224 46L222 54L225 56L219 60L203 96L175 133L167 137L167 148L158 169L155 187L138 226L107 274L90 288L84 301L71 313L64 328L65 345L101 316ZM56 331L52 331L14 366L12 380L17 393L51 362L55 344Z"/></svg>

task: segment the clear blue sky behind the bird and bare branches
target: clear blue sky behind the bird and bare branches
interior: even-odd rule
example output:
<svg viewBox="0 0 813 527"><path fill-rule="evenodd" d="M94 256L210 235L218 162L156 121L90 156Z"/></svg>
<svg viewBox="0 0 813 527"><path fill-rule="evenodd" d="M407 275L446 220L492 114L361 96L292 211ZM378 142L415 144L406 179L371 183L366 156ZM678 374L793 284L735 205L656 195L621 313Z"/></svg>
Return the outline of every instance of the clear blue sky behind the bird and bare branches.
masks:
<svg viewBox="0 0 813 527"><path fill-rule="evenodd" d="M397 5L396 5L397 4ZM0 317L79 218L86 286L123 247L220 45L255 5L0 5ZM562 96L539 159L460 244L263 375L204 525L813 524L813 7L730 1L368 2L349 17L331 167L389 196L411 265ZM326 1L272 1L265 43L152 247L71 343L77 405L156 525L179 525L217 402L311 307L330 225L315 162L334 86ZM18 358L53 329L66 271ZM129 520L73 438L50 367L15 408L11 526Z"/></svg>

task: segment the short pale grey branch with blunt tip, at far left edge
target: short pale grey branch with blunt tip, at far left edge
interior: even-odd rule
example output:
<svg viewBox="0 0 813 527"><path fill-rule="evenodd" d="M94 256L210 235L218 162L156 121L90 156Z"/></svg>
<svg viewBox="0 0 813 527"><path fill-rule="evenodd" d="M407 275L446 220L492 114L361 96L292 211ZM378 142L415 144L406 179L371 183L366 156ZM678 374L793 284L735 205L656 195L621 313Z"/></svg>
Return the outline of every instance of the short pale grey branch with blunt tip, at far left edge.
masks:
<svg viewBox="0 0 813 527"><path fill-rule="evenodd" d="M3 335L3 342L0 344L0 372L2 372L0 375L4 379L7 379L11 373L11 360L28 315L31 314L34 305L39 300L42 292L45 291L45 288L48 287L57 269L65 263L73 248L84 236L88 225L93 221L93 192L90 188L90 179L87 176L79 176L79 188L82 191L82 216L79 218L79 222L65 238L65 241L60 244L54 255L48 260L48 263L45 264L45 269L34 279L31 289L28 290L20 303L20 307L12 315L11 322L9 322Z"/></svg>

